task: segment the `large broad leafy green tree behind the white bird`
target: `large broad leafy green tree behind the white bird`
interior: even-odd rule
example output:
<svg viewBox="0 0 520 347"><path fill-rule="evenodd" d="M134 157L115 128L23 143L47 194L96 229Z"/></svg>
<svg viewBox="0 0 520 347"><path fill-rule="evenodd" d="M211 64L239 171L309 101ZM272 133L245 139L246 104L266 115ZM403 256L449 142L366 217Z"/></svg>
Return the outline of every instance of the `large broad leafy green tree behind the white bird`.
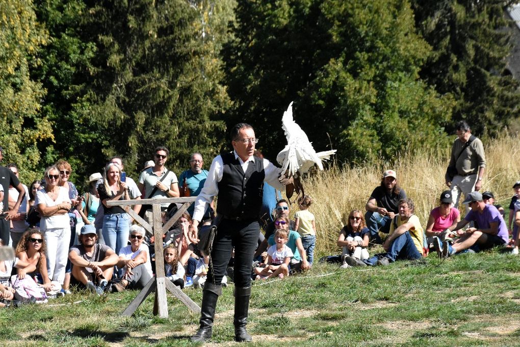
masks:
<svg viewBox="0 0 520 347"><path fill-rule="evenodd" d="M451 101L419 80L430 47L404 0L239 3L235 40L225 51L233 117L251 119L276 156L283 111L318 150L337 158L392 158L444 140Z"/></svg>

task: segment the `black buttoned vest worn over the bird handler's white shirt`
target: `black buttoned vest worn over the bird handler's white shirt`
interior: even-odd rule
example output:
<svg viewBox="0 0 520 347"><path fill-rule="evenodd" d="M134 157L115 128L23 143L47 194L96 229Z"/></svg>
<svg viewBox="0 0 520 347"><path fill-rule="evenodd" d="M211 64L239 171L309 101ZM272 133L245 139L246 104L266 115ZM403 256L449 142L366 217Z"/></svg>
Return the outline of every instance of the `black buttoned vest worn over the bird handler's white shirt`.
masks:
<svg viewBox="0 0 520 347"><path fill-rule="evenodd" d="M217 213L230 218L257 219L262 207L264 162L258 157L243 172L235 153L221 155L224 173L218 182Z"/></svg>

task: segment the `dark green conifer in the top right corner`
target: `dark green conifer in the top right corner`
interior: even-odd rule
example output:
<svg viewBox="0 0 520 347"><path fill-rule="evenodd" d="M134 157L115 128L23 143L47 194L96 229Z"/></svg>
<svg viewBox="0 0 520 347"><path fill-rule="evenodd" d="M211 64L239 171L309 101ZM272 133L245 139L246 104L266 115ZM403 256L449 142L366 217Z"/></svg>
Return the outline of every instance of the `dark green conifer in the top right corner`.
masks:
<svg viewBox="0 0 520 347"><path fill-rule="evenodd" d="M412 1L417 27L433 47L421 78L438 93L452 95L453 120L467 120L476 133L497 135L519 115L518 82L501 75L511 47L504 28L513 25L504 9L511 3Z"/></svg>

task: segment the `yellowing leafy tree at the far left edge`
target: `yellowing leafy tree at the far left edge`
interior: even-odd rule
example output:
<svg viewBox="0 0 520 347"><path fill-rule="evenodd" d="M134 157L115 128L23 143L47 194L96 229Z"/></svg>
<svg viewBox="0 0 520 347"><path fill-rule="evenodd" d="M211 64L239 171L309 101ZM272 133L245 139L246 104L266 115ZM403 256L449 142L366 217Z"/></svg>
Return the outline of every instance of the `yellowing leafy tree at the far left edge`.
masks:
<svg viewBox="0 0 520 347"><path fill-rule="evenodd" d="M0 2L0 42L0 144L4 164L17 163L28 182L41 165L38 144L53 138L48 119L38 115L45 91L30 76L40 63L37 51L47 42L30 0Z"/></svg>

